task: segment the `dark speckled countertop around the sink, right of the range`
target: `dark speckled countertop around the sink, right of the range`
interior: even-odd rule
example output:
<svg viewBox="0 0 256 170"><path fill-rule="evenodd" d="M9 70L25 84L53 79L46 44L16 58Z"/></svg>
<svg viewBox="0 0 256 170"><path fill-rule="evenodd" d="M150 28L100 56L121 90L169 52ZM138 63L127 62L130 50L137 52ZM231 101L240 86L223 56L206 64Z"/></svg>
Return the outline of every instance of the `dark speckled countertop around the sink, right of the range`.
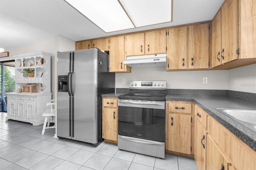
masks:
<svg viewBox="0 0 256 170"><path fill-rule="evenodd" d="M256 132L245 125L240 125L236 120L216 111L216 108L223 109L244 109L256 110L256 103L229 96L210 95L166 95L166 101L193 101L216 121L230 130L244 143L256 151Z"/></svg>

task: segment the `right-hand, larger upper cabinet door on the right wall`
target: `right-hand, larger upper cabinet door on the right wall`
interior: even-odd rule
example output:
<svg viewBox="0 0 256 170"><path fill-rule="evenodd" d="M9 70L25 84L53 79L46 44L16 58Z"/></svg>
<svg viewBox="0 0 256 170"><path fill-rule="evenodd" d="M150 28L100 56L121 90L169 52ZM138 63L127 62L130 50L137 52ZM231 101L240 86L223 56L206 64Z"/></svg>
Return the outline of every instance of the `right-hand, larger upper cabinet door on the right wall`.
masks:
<svg viewBox="0 0 256 170"><path fill-rule="evenodd" d="M238 0L225 0L221 7L222 64L238 59Z"/></svg>

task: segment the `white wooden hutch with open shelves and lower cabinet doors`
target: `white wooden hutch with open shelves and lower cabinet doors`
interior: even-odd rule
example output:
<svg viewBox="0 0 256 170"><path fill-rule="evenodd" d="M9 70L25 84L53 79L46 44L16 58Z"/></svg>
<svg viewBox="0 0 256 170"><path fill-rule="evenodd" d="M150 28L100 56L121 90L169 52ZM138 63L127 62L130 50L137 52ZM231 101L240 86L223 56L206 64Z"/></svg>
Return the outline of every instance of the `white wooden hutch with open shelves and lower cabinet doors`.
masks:
<svg viewBox="0 0 256 170"><path fill-rule="evenodd" d="M42 113L46 103L52 99L51 93L51 53L36 52L14 55L15 91L7 94L7 117L16 121L32 123L38 126L44 123ZM34 70L34 77L28 77L24 69ZM23 72L24 71L24 72ZM26 88L37 86L37 93Z"/></svg>

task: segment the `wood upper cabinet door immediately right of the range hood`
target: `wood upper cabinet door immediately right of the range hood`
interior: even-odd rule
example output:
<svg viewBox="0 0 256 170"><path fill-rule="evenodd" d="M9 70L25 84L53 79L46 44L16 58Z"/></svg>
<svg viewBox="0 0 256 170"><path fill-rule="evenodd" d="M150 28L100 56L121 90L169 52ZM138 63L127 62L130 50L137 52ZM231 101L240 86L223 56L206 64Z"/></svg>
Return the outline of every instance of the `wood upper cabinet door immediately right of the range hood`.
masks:
<svg viewBox="0 0 256 170"><path fill-rule="evenodd" d="M166 69L187 69L187 26L170 28L166 38Z"/></svg>

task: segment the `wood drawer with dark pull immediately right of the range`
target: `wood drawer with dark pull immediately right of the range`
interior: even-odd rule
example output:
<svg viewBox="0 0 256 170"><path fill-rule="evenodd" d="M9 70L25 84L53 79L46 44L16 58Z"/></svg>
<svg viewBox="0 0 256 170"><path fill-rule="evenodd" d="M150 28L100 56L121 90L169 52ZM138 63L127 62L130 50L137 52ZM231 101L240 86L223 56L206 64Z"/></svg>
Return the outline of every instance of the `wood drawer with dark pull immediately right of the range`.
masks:
<svg viewBox="0 0 256 170"><path fill-rule="evenodd" d="M168 112L191 113L191 104L171 102L168 105Z"/></svg>

